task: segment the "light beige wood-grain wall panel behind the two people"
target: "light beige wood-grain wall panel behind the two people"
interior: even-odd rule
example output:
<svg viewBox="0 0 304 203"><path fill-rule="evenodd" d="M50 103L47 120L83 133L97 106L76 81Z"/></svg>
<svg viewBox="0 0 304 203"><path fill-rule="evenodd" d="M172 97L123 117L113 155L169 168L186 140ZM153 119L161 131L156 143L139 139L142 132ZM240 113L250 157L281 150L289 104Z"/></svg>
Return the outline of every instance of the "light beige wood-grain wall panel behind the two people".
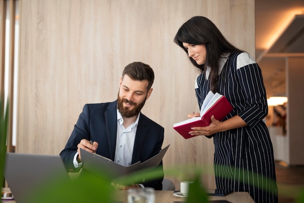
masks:
<svg viewBox="0 0 304 203"><path fill-rule="evenodd" d="M142 61L155 72L142 112L165 127L165 169L211 169L203 181L214 187L213 140L172 129L199 111L196 69L173 43L197 15L254 55L254 0L22 0L17 152L59 154L83 105L114 101L123 68Z"/></svg>

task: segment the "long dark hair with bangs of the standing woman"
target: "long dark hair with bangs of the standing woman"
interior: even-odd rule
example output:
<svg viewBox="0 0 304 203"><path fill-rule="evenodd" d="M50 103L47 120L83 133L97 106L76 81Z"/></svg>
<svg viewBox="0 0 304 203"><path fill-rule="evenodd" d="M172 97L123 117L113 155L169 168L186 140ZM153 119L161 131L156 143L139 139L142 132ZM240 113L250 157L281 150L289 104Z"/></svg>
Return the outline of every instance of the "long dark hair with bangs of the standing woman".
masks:
<svg viewBox="0 0 304 203"><path fill-rule="evenodd" d="M207 67L211 68L209 79L213 92L218 92L219 65L222 54L241 51L226 40L213 22L201 16L191 17L187 20L177 31L174 42L183 48L187 54L188 51L183 46L183 42L206 46L207 56L203 65L198 65L191 57L189 59L193 66L200 69L201 73L205 72Z"/></svg>

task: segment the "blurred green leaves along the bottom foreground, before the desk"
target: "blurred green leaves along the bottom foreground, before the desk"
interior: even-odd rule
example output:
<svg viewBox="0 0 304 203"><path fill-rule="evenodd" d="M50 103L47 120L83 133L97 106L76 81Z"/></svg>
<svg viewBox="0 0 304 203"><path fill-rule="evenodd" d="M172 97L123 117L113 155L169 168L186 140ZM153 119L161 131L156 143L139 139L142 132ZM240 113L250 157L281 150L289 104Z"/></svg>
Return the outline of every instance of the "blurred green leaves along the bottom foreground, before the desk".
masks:
<svg viewBox="0 0 304 203"><path fill-rule="evenodd" d="M184 166L191 167L195 166ZM171 169L165 169L165 174L168 176L185 177L183 172L183 166L174 166ZM195 173L191 173L188 181L193 181L190 185L189 195L186 199L186 203L208 203L208 195L205 192L203 184L201 183L201 177L204 169L196 169ZM193 171L192 171L193 172ZM119 203L119 198L115 193L111 183L118 183L121 185L129 185L136 180L142 180L145 178L146 181L157 179L161 177L161 169L153 170L140 170L127 176L119 177L117 179L111 179L109 171L100 172L98 175L92 173L84 173L80 175L78 179L62 181L58 175L54 175L51 180L48 180L46 186L39 186L35 190L35 195L29 195L29 203L53 203L53 202L72 202L72 203L83 203L83 202L102 202L102 203ZM256 176L255 176L256 177ZM241 181L241 180L240 180ZM292 189L292 188L290 188ZM125 194L125 193L124 193ZM173 192L172 192L173 195ZM304 189L299 191L296 197L296 203L304 203Z"/></svg>

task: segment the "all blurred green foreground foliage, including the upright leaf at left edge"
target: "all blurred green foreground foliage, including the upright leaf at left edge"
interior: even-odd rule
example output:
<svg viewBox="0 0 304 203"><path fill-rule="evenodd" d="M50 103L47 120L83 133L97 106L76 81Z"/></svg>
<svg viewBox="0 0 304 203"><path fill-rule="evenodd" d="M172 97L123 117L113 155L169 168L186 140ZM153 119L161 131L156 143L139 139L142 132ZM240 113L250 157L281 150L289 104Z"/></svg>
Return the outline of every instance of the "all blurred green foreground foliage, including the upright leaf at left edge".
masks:
<svg viewBox="0 0 304 203"><path fill-rule="evenodd" d="M8 102L7 102L8 103ZM3 186L4 178L4 163L6 153L6 137L7 137L7 123L8 123L8 106L4 107L3 94L0 95L0 183ZM167 167L164 170L166 176L177 177L179 180L193 181L189 188L189 196L186 199L187 203L207 203L208 196L201 183L203 175L209 175L213 171L212 166L198 167L197 165L178 165ZM216 166L215 166L216 167ZM221 166L222 167L222 166ZM237 170L237 169L236 169ZM99 173L83 173L81 177L76 179L67 179L62 174L54 171L50 174L47 180L41 180L41 184L37 186L25 202L28 203L84 203L84 202L102 202L102 203L118 203L115 196L115 190L111 183L118 183L121 185L129 185L136 183L138 180L145 178L146 181L157 179L162 176L162 169L155 168L136 171L127 176L122 176L117 179L112 179L111 171L100 171ZM186 171L186 172L185 172ZM243 177L239 171L240 176ZM257 174L252 174L253 179L258 177ZM244 181L244 180L239 180ZM269 180L271 182L271 180ZM263 185L260 186L265 189ZM280 187L278 185L279 192ZM284 186L283 186L284 187ZM297 191L293 198L296 203L304 203L304 187L291 186L284 189L284 196L288 197L292 191ZM173 194L172 194L173 195Z"/></svg>

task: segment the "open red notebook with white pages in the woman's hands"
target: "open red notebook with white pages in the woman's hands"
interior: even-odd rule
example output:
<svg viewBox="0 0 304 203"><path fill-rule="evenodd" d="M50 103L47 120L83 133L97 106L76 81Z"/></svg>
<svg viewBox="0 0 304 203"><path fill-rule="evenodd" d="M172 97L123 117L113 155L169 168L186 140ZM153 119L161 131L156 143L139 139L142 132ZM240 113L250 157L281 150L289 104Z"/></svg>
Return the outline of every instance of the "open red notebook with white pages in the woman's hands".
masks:
<svg viewBox="0 0 304 203"><path fill-rule="evenodd" d="M211 92L211 94L209 94L209 93L208 93L208 95L212 96L213 93L212 92ZM207 95L207 97L208 97L208 95ZM233 110L233 107L225 96L220 95L218 93L216 93L215 96L217 98L209 97L210 102L207 101L206 102L207 104L204 105L204 103L203 103L202 111L201 111L201 115L203 115L202 117L189 118L182 122L175 123L173 125L173 128L179 134L181 134L185 139L188 139L188 138L197 136L197 135L189 134L189 131L191 131L191 128L208 126L211 123L212 115L217 120L222 120L223 118L225 118ZM207 99L207 97L206 97L206 99ZM203 109L203 107L205 107L205 108Z"/></svg>

